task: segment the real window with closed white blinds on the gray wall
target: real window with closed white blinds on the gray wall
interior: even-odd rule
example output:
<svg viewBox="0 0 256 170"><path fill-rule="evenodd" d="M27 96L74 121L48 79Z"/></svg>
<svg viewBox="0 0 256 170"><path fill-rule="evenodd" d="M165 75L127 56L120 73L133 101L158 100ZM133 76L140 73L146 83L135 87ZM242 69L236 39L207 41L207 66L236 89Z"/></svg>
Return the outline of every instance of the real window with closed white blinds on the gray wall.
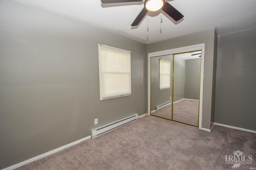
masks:
<svg viewBox="0 0 256 170"><path fill-rule="evenodd" d="M131 52L99 44L100 100L129 96Z"/></svg>

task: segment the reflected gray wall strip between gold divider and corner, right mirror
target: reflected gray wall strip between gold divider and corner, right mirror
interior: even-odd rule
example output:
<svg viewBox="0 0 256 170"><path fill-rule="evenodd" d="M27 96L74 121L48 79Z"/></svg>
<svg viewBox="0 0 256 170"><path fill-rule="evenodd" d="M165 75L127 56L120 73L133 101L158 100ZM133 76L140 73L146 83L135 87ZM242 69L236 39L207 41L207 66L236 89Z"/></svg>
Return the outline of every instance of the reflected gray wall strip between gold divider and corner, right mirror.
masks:
<svg viewBox="0 0 256 170"><path fill-rule="evenodd" d="M174 55L173 102L184 98L186 60Z"/></svg>

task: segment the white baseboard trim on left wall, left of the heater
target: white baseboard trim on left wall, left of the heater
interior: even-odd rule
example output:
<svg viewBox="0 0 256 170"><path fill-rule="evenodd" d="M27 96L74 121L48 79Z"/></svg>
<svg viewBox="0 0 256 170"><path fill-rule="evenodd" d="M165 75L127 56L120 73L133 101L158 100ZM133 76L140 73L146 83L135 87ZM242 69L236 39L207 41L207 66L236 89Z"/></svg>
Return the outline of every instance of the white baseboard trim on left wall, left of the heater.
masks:
<svg viewBox="0 0 256 170"><path fill-rule="evenodd" d="M45 156L48 156L48 155L50 155L50 154L54 154L54 153L56 153L56 152L58 152L58 151L60 151L60 150L66 149L66 148L68 148L68 147L71 147L72 145L76 145L76 144L78 144L78 143L80 143L80 142L82 142L82 141L85 141L85 140L87 140L87 139L90 139L90 138L91 138L91 135L88 136L88 137L79 139L79 140L77 140L77 141L74 141L74 142L72 142L72 143L69 143L69 144L67 144L67 145L64 145L64 146L62 146L62 147L59 147L59 148L57 148L57 149L51 150L51 151L49 151L49 152L46 152L46 153L44 153L44 154L40 154L40 155L38 155L38 156L36 156L36 157L34 157L34 158L30 158L30 159L25 160L25 161L23 161L23 162L20 162L20 163L18 163L18 164L9 166L9 167L4 168L4 169L2 169L2 170L13 170L13 169L18 168L18 167L20 167L20 166L23 166L23 165L25 165L25 164L28 164L28 163L30 163L30 162L33 162L33 161L35 161L35 160L44 158Z"/></svg>

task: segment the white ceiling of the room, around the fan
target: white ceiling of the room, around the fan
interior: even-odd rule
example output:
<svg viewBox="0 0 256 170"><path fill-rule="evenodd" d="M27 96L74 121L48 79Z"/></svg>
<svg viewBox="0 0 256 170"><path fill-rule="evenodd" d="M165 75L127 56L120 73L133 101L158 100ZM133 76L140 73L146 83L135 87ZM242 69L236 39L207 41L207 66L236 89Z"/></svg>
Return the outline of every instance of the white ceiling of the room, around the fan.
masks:
<svg viewBox="0 0 256 170"><path fill-rule="evenodd" d="M184 20L175 25L162 15L163 22L160 23L159 10L149 12L148 18L137 28L130 25L142 10L143 2L103 8L100 0L17 1L102 27L145 44L214 27L218 29L218 35L256 28L256 0L168 0L184 15Z"/></svg>

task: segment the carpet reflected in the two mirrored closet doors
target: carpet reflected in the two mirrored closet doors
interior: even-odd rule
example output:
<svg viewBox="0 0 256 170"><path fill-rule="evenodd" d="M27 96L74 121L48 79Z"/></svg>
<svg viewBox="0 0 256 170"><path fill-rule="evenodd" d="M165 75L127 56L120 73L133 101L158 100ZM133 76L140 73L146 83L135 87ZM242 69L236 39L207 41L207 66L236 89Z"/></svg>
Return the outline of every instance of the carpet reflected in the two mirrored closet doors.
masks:
<svg viewBox="0 0 256 170"><path fill-rule="evenodd" d="M173 104L173 120L198 126L198 101L182 100ZM171 119L172 106L164 107L151 115Z"/></svg>

